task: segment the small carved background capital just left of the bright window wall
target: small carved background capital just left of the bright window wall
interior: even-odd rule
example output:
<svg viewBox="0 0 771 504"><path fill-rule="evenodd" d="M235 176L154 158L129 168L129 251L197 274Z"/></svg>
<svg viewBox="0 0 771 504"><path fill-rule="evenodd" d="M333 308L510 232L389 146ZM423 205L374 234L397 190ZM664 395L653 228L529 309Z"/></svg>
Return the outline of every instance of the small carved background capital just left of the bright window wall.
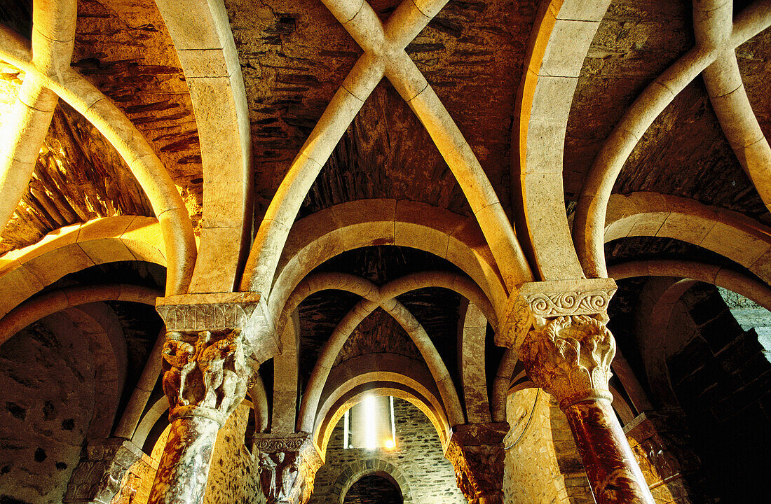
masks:
<svg viewBox="0 0 771 504"><path fill-rule="evenodd" d="M308 432L258 432L254 455L268 504L305 504L313 492L316 471L324 463Z"/></svg>

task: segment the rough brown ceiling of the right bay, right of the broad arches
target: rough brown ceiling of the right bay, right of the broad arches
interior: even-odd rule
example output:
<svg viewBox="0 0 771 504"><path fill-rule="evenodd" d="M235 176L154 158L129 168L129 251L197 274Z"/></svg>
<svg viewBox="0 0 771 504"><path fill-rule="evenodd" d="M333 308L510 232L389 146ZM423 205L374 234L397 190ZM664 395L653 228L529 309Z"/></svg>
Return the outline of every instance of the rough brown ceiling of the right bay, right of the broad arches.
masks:
<svg viewBox="0 0 771 504"><path fill-rule="evenodd" d="M742 5L734 8L736 15ZM736 50L749 101L766 136L771 133L769 42L766 30ZM577 199L602 142L631 102L694 44L690 2L611 3L581 68L567 124L567 201ZM701 77L675 97L626 162L614 192L635 191L684 196L771 220L720 128Z"/></svg>

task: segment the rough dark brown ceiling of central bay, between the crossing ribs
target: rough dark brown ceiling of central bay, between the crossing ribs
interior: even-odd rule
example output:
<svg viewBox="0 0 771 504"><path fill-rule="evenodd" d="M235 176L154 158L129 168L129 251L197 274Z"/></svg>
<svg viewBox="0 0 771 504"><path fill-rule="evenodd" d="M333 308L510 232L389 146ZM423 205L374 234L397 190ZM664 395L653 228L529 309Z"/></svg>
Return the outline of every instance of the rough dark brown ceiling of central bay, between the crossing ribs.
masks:
<svg viewBox="0 0 771 504"><path fill-rule="evenodd" d="M247 88L258 215L361 49L321 2L225 2ZM370 2L385 20L396 0ZM406 51L454 118L510 210L514 98L534 2L449 2ZM387 81L325 165L304 212L389 197L469 211L423 126Z"/></svg>

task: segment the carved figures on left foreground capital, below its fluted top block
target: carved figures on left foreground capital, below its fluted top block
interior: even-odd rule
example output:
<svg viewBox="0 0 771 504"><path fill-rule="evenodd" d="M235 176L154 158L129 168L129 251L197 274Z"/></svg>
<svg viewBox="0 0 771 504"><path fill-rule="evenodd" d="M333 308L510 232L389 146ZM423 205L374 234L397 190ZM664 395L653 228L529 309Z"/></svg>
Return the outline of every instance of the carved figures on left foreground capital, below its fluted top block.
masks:
<svg viewBox="0 0 771 504"><path fill-rule="evenodd" d="M200 415L224 425L247 392L246 354L240 329L167 332L162 369L170 418Z"/></svg>

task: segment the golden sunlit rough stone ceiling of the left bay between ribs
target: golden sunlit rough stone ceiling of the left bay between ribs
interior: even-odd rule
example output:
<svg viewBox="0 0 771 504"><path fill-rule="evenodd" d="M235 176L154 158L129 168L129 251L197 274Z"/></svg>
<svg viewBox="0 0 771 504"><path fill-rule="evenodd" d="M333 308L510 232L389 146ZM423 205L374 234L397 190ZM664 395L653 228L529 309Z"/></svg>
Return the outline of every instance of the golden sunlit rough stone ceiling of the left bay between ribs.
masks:
<svg viewBox="0 0 771 504"><path fill-rule="evenodd" d="M29 37L32 2L0 11ZM78 2L72 66L126 112L166 165L200 219L202 175L197 128L177 52L152 0ZM18 72L0 72L3 102L19 92ZM8 112L0 104L2 115ZM2 233L0 253L31 245L54 229L96 217L153 215L123 159L89 122L59 103L31 188Z"/></svg>

